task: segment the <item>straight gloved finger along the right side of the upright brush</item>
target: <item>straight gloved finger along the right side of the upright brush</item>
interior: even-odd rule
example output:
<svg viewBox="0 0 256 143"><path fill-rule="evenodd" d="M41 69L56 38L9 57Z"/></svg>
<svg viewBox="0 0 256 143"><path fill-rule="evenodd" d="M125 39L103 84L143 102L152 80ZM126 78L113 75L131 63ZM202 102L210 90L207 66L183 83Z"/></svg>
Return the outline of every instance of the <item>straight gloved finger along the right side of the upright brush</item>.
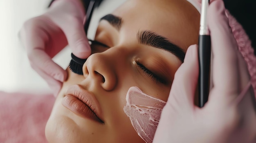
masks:
<svg viewBox="0 0 256 143"><path fill-rule="evenodd" d="M238 95L237 44L229 27L222 0L209 5L208 26L213 51L213 89L224 95Z"/></svg>

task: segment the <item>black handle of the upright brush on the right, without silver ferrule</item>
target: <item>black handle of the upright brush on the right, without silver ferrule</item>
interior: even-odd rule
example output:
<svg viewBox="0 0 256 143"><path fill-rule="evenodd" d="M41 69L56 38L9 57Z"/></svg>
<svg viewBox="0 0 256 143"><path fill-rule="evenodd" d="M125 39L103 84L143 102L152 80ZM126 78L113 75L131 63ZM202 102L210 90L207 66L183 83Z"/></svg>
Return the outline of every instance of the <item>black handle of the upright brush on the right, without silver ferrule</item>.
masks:
<svg viewBox="0 0 256 143"><path fill-rule="evenodd" d="M198 42L199 77L198 94L199 107L203 107L209 96L209 74L211 64L211 37L199 35Z"/></svg>

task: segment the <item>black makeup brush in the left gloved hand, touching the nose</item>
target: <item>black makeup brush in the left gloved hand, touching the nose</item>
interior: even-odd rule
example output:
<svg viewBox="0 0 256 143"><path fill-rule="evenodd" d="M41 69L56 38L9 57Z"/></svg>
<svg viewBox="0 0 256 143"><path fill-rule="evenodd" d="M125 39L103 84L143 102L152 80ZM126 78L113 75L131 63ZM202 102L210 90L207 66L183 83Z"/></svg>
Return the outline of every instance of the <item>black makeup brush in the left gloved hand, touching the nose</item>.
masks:
<svg viewBox="0 0 256 143"><path fill-rule="evenodd" d="M103 0L90 0L88 9L86 11L86 20L85 20L85 25L84 25L84 31L85 34L87 35L88 28L90 25L90 21L92 18L92 13L95 7L99 7ZM69 67L72 70L72 72L83 75L83 64L85 63L86 59L80 59L79 57L76 57L73 53L71 53L72 59L70 60Z"/></svg>

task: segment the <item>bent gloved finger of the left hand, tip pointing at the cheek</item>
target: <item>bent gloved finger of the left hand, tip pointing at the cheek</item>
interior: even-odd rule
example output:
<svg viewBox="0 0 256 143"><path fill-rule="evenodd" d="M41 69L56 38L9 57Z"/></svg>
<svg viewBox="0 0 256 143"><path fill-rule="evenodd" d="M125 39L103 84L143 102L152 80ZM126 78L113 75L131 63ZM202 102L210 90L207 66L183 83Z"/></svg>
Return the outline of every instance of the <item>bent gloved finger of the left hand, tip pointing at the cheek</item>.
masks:
<svg viewBox="0 0 256 143"><path fill-rule="evenodd" d="M36 27L33 22L28 22L28 25L25 25L20 31L20 36L25 44L24 46L26 47L32 68L40 69L58 81L65 81L67 78L66 71L54 63L51 57L45 53L45 42L48 40L47 34L42 29Z"/></svg>

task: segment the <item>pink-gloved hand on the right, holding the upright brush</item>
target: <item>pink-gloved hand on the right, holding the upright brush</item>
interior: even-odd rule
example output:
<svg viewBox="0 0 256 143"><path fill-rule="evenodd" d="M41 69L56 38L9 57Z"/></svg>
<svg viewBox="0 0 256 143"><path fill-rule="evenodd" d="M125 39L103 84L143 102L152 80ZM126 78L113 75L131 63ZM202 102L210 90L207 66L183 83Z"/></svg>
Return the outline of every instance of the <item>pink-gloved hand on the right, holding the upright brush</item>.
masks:
<svg viewBox="0 0 256 143"><path fill-rule="evenodd" d="M211 2L208 18L213 52L209 100L203 108L194 105L198 51L192 45L175 73L153 143L255 143L254 92L222 0ZM247 92L240 94L243 91Z"/></svg>

